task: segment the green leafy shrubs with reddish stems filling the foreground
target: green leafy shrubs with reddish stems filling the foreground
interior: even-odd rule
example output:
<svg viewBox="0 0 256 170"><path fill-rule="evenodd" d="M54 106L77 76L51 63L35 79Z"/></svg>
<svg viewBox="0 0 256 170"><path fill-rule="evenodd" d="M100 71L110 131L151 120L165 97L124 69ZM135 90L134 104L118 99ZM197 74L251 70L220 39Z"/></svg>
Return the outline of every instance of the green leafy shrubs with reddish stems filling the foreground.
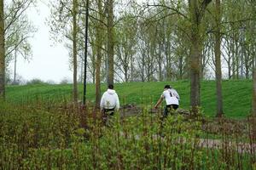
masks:
<svg viewBox="0 0 256 170"><path fill-rule="evenodd" d="M83 116L86 126L81 126ZM174 113L163 120L160 113L144 110L125 118L116 113L109 122L103 126L100 114L64 104L0 105L0 167L253 169L253 155L240 155L236 146L201 146L200 119Z"/></svg>

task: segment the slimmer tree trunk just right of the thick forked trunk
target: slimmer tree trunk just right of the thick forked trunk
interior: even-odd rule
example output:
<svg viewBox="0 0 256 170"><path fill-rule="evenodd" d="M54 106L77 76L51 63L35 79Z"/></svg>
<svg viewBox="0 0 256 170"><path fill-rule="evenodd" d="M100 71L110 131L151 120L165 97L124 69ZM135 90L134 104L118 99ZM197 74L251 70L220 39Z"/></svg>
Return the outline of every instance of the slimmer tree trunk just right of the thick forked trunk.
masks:
<svg viewBox="0 0 256 170"><path fill-rule="evenodd" d="M216 91L217 91L217 116L223 115L223 99L222 99L222 71L221 71L221 35L220 35L220 0L216 0L216 28L215 33L215 77L216 77Z"/></svg>

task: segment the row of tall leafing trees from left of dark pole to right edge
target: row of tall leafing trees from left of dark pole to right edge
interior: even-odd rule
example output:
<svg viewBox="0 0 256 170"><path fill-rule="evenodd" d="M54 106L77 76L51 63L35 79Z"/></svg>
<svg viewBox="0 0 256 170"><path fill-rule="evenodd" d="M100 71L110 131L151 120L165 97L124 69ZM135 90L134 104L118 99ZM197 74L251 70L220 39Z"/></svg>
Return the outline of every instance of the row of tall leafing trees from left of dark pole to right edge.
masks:
<svg viewBox="0 0 256 170"><path fill-rule="evenodd" d="M253 77L253 0L90 0L89 5L87 69L89 79L96 83L96 106L100 102L101 82L190 79L191 106L196 113L201 103L200 80L214 72L217 113L221 116L223 71L229 79ZM73 102L77 104L78 71L81 69L80 77L84 72L86 3L58 0L50 8L51 37L56 42L65 41L70 49ZM0 93L4 92L3 77L0 71Z"/></svg>

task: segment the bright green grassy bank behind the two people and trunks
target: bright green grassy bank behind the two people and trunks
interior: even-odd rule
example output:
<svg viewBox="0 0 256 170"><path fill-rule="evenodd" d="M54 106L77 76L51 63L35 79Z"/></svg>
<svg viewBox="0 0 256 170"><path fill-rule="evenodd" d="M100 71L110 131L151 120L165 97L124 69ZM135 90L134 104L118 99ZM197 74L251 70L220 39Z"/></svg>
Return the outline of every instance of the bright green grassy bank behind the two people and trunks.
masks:
<svg viewBox="0 0 256 170"><path fill-rule="evenodd" d="M135 103L137 105L154 105L163 91L164 85L171 84L177 89L181 97L180 107L189 109L189 81L178 82L129 82L117 83L115 89L119 94L121 105ZM224 81L223 98L224 114L229 117L241 118L249 115L252 101L251 80ZM79 85L79 94L82 97L82 85ZM102 92L106 85L102 84ZM32 103L36 100L71 99L72 85L27 85L9 86L7 88L7 101L14 104ZM88 85L87 99L95 102L95 86ZM216 93L214 81L201 82L201 106L204 114L214 116L216 111Z"/></svg>

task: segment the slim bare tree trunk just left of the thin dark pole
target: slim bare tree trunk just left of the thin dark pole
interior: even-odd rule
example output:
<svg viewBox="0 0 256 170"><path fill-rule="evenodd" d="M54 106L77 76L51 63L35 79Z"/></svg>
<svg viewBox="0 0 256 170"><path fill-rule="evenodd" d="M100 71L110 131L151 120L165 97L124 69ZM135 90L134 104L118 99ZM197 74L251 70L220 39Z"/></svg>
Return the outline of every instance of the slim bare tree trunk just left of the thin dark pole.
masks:
<svg viewBox="0 0 256 170"><path fill-rule="evenodd" d="M77 11L78 1L73 0L73 103L78 105L78 50L77 50Z"/></svg>

